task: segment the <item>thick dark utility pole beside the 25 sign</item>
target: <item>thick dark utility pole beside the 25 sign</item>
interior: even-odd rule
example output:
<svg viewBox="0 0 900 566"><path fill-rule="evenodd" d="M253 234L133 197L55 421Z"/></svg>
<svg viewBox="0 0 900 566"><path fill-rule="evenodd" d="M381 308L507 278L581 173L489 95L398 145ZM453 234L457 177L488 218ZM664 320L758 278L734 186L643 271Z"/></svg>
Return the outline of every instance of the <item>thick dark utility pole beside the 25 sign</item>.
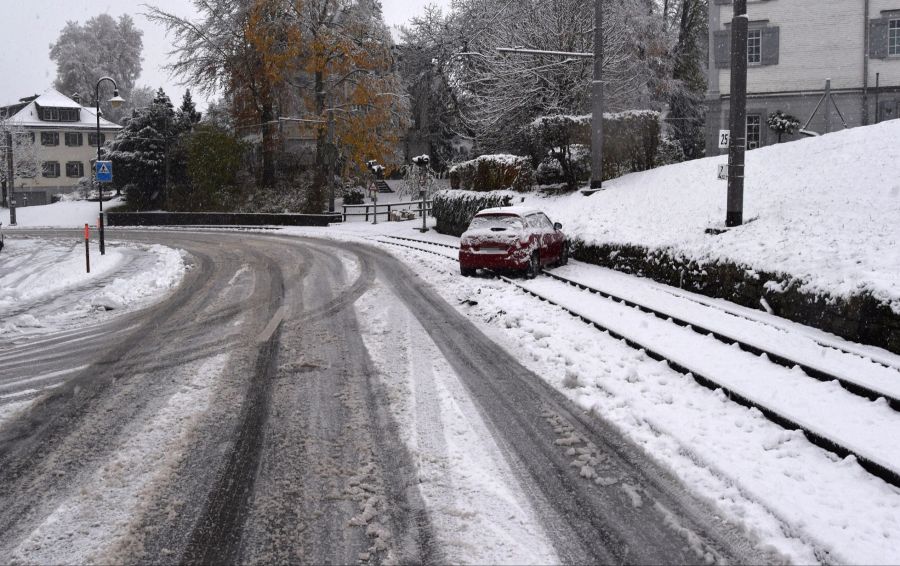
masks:
<svg viewBox="0 0 900 566"><path fill-rule="evenodd" d="M744 223L744 159L747 150L747 0L734 0L731 20L731 104L728 201L725 226Z"/></svg>

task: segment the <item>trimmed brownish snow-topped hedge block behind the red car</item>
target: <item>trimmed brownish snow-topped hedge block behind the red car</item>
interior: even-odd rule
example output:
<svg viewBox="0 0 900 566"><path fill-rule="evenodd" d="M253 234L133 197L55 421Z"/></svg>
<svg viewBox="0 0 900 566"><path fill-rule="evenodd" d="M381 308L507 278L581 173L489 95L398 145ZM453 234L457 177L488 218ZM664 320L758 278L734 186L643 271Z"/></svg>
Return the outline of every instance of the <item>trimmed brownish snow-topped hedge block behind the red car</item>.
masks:
<svg viewBox="0 0 900 566"><path fill-rule="evenodd" d="M530 191L534 168L519 155L482 155L450 168L450 186L466 191Z"/></svg>

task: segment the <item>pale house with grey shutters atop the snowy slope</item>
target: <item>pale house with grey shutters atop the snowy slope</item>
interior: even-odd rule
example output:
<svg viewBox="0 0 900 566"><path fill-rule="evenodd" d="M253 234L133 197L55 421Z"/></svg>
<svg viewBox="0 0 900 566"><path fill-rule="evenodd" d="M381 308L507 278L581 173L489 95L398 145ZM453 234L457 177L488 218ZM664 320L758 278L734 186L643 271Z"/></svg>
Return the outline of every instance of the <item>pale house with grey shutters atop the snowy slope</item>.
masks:
<svg viewBox="0 0 900 566"><path fill-rule="evenodd" d="M709 2L707 155L728 129L733 10ZM900 116L900 0L748 0L747 15L748 148L777 143L779 110L818 134Z"/></svg>

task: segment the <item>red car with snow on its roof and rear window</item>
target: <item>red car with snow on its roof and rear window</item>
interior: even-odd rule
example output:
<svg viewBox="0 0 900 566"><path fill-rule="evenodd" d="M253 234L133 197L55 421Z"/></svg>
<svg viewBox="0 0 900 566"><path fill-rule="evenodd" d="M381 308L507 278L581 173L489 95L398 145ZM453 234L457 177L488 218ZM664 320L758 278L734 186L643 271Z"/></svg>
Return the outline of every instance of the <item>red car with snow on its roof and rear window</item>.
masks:
<svg viewBox="0 0 900 566"><path fill-rule="evenodd" d="M545 265L568 262L569 244L561 229L561 224L531 208L482 210L459 240L459 271L465 277L478 269L522 271L535 277Z"/></svg>

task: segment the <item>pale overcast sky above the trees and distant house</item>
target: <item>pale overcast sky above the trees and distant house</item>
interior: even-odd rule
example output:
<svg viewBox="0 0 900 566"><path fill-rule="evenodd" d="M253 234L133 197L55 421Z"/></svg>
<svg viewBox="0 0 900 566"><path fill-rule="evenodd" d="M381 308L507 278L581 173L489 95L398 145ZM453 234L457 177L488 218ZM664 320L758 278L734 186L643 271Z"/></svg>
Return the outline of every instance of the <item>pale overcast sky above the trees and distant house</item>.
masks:
<svg viewBox="0 0 900 566"><path fill-rule="evenodd" d="M185 87L163 69L171 44L165 30L141 15L145 3L185 16L193 13L188 0L0 0L0 105L40 94L53 86L56 65L50 60L50 44L56 42L67 21L84 23L108 13L117 19L121 14L129 14L144 32L143 70L137 84L163 87L177 106ZM450 0L382 0L389 26L421 14L426 4L449 3ZM205 106L202 97L195 96L194 100Z"/></svg>

